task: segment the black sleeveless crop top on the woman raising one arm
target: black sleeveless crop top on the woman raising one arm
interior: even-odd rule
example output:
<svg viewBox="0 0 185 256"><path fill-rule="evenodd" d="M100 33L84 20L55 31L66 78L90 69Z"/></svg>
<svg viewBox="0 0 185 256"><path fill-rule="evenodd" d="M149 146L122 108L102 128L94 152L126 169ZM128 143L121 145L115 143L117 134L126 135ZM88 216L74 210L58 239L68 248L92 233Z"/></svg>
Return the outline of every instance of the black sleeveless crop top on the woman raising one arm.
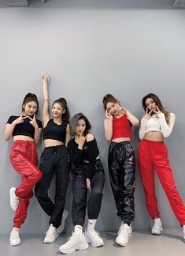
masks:
<svg viewBox="0 0 185 256"><path fill-rule="evenodd" d="M43 140L50 139L65 143L66 127L66 122L58 125L54 119L50 119L43 129Z"/></svg>

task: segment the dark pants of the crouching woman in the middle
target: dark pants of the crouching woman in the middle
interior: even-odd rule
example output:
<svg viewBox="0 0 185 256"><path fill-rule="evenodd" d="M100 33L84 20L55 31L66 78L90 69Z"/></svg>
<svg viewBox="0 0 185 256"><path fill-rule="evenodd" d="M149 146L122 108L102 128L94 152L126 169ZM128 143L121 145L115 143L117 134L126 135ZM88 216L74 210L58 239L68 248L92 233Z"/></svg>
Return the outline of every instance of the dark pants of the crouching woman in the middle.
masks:
<svg viewBox="0 0 185 256"><path fill-rule="evenodd" d="M72 183L72 224L83 227L86 207L90 220L97 220L103 197L103 186L105 175L102 163L96 160L94 164L94 175L91 178L91 192L87 202L87 184L86 184L86 168L87 164L81 165L74 170L74 179Z"/></svg>

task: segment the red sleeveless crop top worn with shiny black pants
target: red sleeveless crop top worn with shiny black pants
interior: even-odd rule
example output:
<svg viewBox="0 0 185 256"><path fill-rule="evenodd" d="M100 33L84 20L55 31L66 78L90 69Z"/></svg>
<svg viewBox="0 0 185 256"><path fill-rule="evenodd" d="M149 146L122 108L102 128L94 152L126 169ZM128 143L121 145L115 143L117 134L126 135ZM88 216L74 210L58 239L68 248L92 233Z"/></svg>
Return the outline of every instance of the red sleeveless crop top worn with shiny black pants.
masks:
<svg viewBox="0 0 185 256"><path fill-rule="evenodd" d="M126 114L122 115L120 119L113 117L113 136L111 140L117 137L131 137L131 123Z"/></svg>

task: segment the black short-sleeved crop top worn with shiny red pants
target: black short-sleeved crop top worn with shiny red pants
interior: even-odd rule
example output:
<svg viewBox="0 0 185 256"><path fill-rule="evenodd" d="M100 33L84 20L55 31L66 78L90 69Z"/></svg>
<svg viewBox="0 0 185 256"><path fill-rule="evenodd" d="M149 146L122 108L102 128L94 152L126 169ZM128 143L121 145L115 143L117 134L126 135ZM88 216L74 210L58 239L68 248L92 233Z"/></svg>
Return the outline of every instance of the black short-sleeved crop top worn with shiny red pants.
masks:
<svg viewBox="0 0 185 256"><path fill-rule="evenodd" d="M18 119L19 116L17 115L11 115L8 119L8 121L6 123L13 123L14 120ZM21 122L19 124L17 124L13 130L13 136L17 136L17 135L24 135L24 136L28 136L31 137L32 139L34 139L34 134L35 134L35 128L31 125L30 123L30 119L26 118L23 119L24 122ZM38 119L36 119L36 122L39 126L39 128L42 128L42 122Z"/></svg>

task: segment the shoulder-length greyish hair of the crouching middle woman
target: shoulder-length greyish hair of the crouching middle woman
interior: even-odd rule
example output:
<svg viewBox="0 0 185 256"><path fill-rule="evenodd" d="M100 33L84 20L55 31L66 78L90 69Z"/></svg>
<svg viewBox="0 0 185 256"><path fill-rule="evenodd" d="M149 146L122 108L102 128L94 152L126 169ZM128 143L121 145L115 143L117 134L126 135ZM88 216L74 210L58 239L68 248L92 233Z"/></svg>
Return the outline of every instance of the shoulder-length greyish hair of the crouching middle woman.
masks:
<svg viewBox="0 0 185 256"><path fill-rule="evenodd" d="M87 117L83 115L83 113L77 113L76 115L72 116L72 119L69 122L70 134L72 135L72 137L75 136L76 125L80 119L83 119L86 123L86 129L84 130L84 135L86 136L89 130L91 130L91 123L89 122Z"/></svg>

